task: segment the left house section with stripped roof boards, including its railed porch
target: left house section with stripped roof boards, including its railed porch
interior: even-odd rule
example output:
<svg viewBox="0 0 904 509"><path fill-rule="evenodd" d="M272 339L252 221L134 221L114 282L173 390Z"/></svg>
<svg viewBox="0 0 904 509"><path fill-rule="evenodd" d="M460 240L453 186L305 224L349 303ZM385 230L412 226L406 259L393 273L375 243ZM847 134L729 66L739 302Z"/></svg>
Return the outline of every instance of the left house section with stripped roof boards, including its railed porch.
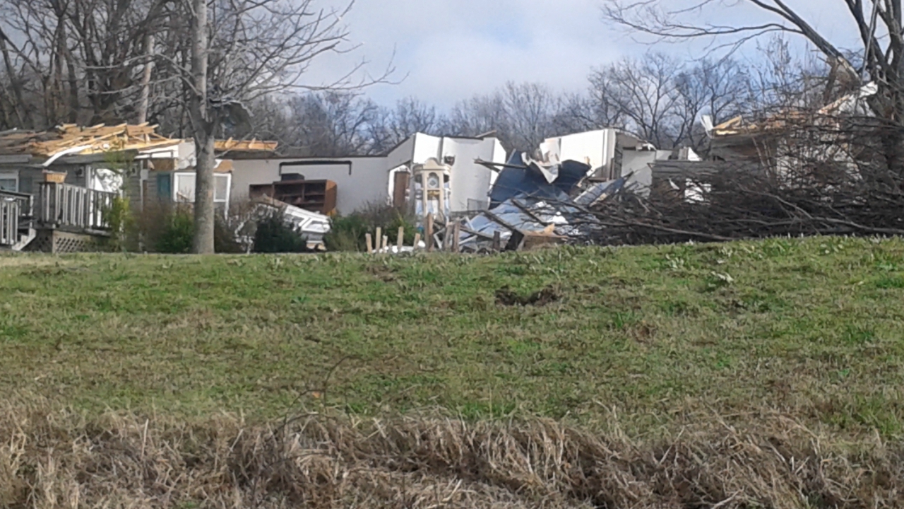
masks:
<svg viewBox="0 0 904 509"><path fill-rule="evenodd" d="M276 149L272 142L218 141L219 153ZM231 160L218 158L214 201L229 212ZM0 132L0 249L68 253L110 235L108 210L130 197L153 204L194 200L194 144L148 124Z"/></svg>

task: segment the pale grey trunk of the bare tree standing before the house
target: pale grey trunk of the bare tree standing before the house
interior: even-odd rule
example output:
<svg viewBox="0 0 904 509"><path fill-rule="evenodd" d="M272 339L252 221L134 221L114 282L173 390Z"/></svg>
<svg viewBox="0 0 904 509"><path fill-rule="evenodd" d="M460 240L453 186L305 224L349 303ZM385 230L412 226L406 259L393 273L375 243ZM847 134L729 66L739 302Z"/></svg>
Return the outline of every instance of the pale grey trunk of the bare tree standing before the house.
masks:
<svg viewBox="0 0 904 509"><path fill-rule="evenodd" d="M213 146L216 123L207 104L207 0L193 0L191 116L194 135L193 252L213 253Z"/></svg>

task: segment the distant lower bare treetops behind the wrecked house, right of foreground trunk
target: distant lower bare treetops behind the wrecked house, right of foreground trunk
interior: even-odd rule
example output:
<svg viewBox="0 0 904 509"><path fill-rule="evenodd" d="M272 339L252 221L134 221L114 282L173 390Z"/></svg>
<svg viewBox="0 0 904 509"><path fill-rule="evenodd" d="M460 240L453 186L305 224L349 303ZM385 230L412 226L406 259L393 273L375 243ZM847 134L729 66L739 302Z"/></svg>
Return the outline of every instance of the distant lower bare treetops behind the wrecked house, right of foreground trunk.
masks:
<svg viewBox="0 0 904 509"><path fill-rule="evenodd" d="M450 110L408 97L385 106L365 91L314 91L256 103L250 129L299 156L382 154L415 132L494 133L509 150L532 152L544 139L608 127L628 130L660 149L708 149L702 116L718 124L791 105L828 101L824 62L796 56L776 38L749 60L683 61L645 53L589 72L586 90L560 93L541 82L507 82ZM832 97L835 97L833 95Z"/></svg>

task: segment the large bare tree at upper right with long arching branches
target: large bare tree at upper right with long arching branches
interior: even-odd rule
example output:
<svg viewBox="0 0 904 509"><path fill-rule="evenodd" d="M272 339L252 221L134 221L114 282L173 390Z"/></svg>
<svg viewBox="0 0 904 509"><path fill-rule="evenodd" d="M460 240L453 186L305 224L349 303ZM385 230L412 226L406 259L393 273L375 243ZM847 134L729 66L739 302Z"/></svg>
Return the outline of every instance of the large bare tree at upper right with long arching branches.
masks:
<svg viewBox="0 0 904 509"><path fill-rule="evenodd" d="M824 12L845 13L852 21L858 41L853 53L842 51L827 34L821 33L796 8L784 0L607 0L607 18L634 31L660 39L686 40L715 38L717 47L737 48L763 34L796 34L823 53L831 68L827 89L857 87L864 76L879 87L868 105L880 125L874 129L881 140L886 165L894 173L904 173L904 8L900 0L825 0ZM735 19L729 24L701 24L701 14L722 9L724 14L740 12L736 7L752 6L771 20L749 23ZM838 35L841 37L842 35ZM853 55L859 56L858 62Z"/></svg>

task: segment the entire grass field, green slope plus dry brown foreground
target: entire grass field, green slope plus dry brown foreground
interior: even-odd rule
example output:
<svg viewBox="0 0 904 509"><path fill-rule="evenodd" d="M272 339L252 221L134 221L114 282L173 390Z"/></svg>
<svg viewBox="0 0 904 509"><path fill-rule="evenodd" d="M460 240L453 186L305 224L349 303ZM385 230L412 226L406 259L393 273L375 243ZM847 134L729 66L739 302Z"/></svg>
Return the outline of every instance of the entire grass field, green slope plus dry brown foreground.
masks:
<svg viewBox="0 0 904 509"><path fill-rule="evenodd" d="M0 256L0 507L898 508L902 307L901 240Z"/></svg>

